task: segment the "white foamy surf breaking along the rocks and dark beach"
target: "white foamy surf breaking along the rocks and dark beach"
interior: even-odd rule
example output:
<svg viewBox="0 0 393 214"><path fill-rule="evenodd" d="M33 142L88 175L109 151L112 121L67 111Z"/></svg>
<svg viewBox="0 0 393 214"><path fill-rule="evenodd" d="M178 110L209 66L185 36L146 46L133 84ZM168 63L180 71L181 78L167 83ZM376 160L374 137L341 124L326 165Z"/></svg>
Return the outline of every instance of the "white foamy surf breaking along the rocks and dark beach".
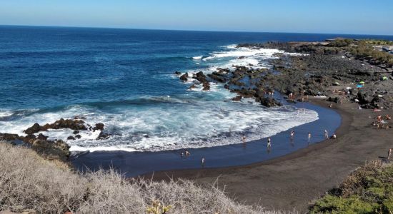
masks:
<svg viewBox="0 0 393 214"><path fill-rule="evenodd" d="M183 72L188 72L191 77L199 71L212 73L219 67L233 69L232 65L252 64L252 67L268 68L267 59L274 58L276 53L286 54L274 49L227 46L225 51L214 52L207 58L194 58L209 63L207 68ZM196 82L188 78L186 83ZM71 151L165 151L240 143L243 134L250 141L257 140L318 119L317 112L304 110L304 113L298 113L298 109L292 106L264 108L251 99L232 102L231 98L236 95L229 93L222 84L211 83L210 91L202 91L202 84L195 85L197 88L183 96L143 96L131 98L125 105L104 103L106 107L115 105L109 108L110 111L104 111L94 103L45 113L22 111L29 113L22 113L11 121L0 121L0 132L24 136L24 129L34 123L43 125L59 118L84 116L84 121L92 126L104 123L105 131L111 133L111 137L96 140L99 131L80 131L80 139L67 141L68 136L74 136L69 129L41 133L51 140L66 141ZM0 118L13 114L3 110Z"/></svg>

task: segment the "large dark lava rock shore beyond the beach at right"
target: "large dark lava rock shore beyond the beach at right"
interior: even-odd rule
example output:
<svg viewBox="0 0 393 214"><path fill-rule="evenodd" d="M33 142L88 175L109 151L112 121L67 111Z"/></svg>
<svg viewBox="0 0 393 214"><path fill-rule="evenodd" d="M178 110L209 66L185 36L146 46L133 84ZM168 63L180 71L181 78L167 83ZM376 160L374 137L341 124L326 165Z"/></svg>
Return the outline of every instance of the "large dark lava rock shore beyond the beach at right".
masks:
<svg viewBox="0 0 393 214"><path fill-rule="evenodd" d="M351 46L357 45L356 40L351 41L354 43ZM300 96L328 96L327 101L339 103L338 96L330 88L342 86L346 98L362 108L393 108L393 68L372 58L353 56L348 48L332 42L267 42L237 47L279 49L297 54L276 54L277 58L269 60L271 68L232 66L231 69L217 68L207 76L200 71L197 81L204 85L209 81L222 83L224 88L237 93L232 101L254 98L267 107L281 105L269 96L274 91L290 102L304 101ZM182 77L185 76L188 73ZM359 82L363 82L361 88L357 86ZM194 87L193 84L190 88ZM289 99L290 94L297 99Z"/></svg>

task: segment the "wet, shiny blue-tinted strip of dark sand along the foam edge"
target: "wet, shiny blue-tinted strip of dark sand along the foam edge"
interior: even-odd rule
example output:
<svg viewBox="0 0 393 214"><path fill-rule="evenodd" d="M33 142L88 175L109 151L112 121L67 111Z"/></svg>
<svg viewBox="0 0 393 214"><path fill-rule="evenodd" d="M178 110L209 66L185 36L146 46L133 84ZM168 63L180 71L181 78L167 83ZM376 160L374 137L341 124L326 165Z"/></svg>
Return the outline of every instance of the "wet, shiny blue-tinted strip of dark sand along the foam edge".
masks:
<svg viewBox="0 0 393 214"><path fill-rule="evenodd" d="M128 177L160 170L202 168L200 163L202 156L206 158L205 168L247 165L307 148L309 146L307 141L308 132L312 132L310 145L323 141L324 129L327 129L329 133L333 133L341 123L339 114L332 109L314 106L310 103L297 103L296 106L317 111L319 120L291 129L295 131L293 142L289 138L291 130L272 136L272 148L269 151L267 150L267 138L247 143L241 143L241 139L239 139L239 144L236 145L189 149L191 156L187 158L181 158L181 151L154 153L101 151L74 156L72 163L79 170L84 167L92 170L96 170L99 167L104 169L113 167L116 170L120 170L121 173L125 173Z"/></svg>

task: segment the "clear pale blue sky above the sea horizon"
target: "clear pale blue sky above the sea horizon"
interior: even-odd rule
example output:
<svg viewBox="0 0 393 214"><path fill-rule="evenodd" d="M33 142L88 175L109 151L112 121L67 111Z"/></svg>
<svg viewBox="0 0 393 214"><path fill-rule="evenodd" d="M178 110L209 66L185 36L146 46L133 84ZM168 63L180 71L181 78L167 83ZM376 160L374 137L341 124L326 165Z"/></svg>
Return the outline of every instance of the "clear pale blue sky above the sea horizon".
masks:
<svg viewBox="0 0 393 214"><path fill-rule="evenodd" d="M393 0L0 0L0 24L393 35Z"/></svg>

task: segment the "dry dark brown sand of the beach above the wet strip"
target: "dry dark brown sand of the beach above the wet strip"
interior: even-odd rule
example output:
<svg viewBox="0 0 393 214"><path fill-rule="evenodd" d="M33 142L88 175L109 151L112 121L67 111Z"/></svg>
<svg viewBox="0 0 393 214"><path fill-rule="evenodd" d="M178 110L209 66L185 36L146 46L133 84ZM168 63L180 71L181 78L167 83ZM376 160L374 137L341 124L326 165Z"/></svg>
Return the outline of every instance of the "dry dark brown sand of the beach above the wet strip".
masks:
<svg viewBox="0 0 393 214"><path fill-rule="evenodd" d="M312 103L327 106L314 99ZM225 186L235 200L247 204L260 203L276 210L307 211L307 206L319 195L334 188L352 170L365 161L382 158L393 147L392 130L372 128L372 118L390 114L392 110L374 113L357 109L356 103L343 101L333 104L342 116L337 139L317 143L287 156L262 163L197 170L172 170L154 173L155 180L186 178L197 183L214 183ZM369 117L372 118L369 118Z"/></svg>

